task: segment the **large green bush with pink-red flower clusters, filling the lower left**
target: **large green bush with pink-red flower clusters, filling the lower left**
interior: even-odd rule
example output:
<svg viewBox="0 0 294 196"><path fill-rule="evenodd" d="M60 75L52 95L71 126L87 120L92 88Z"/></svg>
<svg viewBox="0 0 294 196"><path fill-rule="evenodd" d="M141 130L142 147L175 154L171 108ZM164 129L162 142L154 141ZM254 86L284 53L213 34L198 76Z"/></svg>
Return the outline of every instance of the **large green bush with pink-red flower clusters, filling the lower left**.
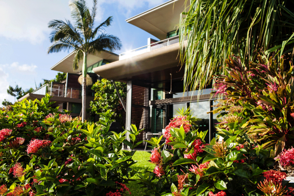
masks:
<svg viewBox="0 0 294 196"><path fill-rule="evenodd" d="M132 125L109 132L109 111L95 126L82 127L68 111L49 107L49 98L24 99L12 111L0 111L0 195L128 194L124 183L136 173L130 166L142 130Z"/></svg>

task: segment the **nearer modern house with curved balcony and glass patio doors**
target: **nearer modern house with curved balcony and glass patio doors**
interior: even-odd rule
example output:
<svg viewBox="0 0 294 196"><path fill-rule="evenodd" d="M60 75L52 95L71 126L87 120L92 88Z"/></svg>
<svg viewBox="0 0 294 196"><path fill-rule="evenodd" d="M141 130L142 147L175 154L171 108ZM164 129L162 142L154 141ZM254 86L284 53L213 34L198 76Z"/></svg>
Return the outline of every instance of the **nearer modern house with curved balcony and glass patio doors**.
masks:
<svg viewBox="0 0 294 196"><path fill-rule="evenodd" d="M99 76L127 83L126 129L131 124L146 132L158 133L175 117L176 110L189 107L200 119L199 130L209 130L206 140L214 137L211 89L183 94L185 65L181 68L177 24L184 12L185 0L170 0L126 20L158 40L148 39L147 45L120 54L119 60L93 69ZM188 1L189 3L189 1ZM189 4L188 4L189 6Z"/></svg>

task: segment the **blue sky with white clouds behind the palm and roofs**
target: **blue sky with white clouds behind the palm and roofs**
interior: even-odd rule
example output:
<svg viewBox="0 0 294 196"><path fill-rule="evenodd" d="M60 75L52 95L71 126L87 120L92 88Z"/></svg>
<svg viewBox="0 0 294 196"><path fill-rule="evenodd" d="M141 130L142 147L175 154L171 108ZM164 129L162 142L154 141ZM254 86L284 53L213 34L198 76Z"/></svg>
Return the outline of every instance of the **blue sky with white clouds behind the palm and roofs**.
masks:
<svg viewBox="0 0 294 196"><path fill-rule="evenodd" d="M168 0L98 0L96 26L113 16L106 32L120 38L123 48L147 45L147 38L156 39L144 30L125 22ZM0 0L0 105L4 99L14 103L7 94L8 86L35 88L43 79L53 79L58 73L50 68L69 52L48 54L50 46L48 23L51 20L71 20L69 0ZM92 9L93 0L86 0ZM70 51L71 52L71 51Z"/></svg>

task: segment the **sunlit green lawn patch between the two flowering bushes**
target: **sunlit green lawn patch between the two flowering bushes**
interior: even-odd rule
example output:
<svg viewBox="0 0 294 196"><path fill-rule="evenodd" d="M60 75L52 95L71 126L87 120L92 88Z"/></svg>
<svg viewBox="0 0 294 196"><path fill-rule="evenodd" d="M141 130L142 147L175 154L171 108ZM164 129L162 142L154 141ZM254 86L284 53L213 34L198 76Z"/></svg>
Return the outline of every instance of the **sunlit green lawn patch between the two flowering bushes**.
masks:
<svg viewBox="0 0 294 196"><path fill-rule="evenodd" d="M138 170L139 172L143 172L146 168L148 168L149 171L153 171L155 168L154 164L148 162L148 160L150 160L150 153L146 151L136 151L133 156L133 160L138 162L134 164L132 168L134 170ZM137 176L133 177L133 179L137 178ZM129 184L126 184L126 186L130 189L130 192L132 193L131 196L145 195L145 189L141 188L141 185L138 185L137 182L129 182Z"/></svg>

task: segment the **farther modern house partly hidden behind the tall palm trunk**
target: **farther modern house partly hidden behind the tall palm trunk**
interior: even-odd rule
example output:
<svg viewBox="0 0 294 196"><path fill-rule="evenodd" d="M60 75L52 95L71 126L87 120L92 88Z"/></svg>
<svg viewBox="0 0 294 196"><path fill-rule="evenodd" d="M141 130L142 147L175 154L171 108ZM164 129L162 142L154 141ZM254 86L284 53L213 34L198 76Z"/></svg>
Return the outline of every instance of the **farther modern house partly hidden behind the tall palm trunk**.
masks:
<svg viewBox="0 0 294 196"><path fill-rule="evenodd" d="M20 98L19 101L24 98L27 99L41 99L45 97L46 93L50 96L53 96L50 101L55 103L52 107L59 106L59 111L63 109L72 111L72 117L81 116L82 109L82 86L78 83L78 77L81 74L82 63L79 63L79 69L73 71L73 58L74 52L67 55L64 59L56 63L51 70L58 72L67 73L66 79L64 81L51 82L51 84L45 84L39 89L35 90L32 93L25 95ZM93 68L105 65L106 63L111 63L119 60L119 56L112 52L103 51L95 55L88 55L88 74L92 78L93 84L100 79L99 76L94 73ZM86 109L90 108L90 101L94 100L95 92L91 89L92 85L87 87L87 104ZM86 115L86 118L89 118L89 114Z"/></svg>

